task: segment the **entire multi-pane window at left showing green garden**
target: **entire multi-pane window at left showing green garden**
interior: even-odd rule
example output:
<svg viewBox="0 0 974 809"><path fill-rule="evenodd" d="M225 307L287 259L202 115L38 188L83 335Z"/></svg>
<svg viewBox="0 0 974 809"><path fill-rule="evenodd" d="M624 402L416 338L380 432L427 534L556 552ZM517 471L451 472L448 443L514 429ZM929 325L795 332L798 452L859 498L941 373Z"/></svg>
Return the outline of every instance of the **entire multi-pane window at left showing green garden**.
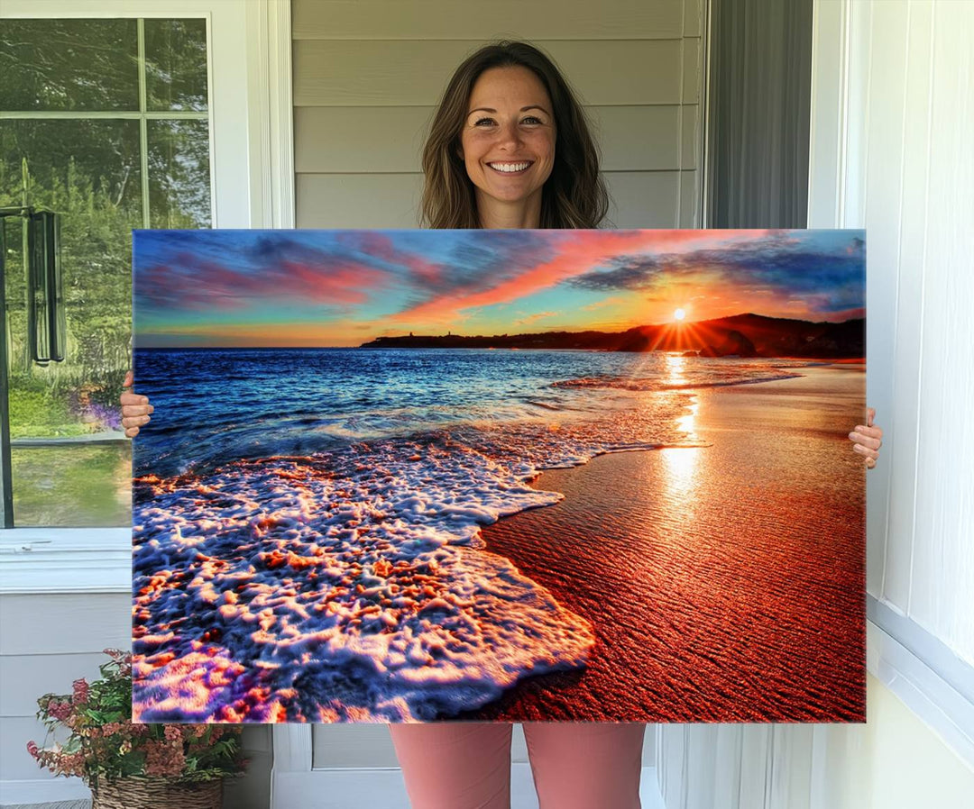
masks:
<svg viewBox="0 0 974 809"><path fill-rule="evenodd" d="M61 215L67 337L63 362L32 360L5 217L15 525L126 526L131 229L210 224L206 19L7 20L0 66L0 207Z"/></svg>

